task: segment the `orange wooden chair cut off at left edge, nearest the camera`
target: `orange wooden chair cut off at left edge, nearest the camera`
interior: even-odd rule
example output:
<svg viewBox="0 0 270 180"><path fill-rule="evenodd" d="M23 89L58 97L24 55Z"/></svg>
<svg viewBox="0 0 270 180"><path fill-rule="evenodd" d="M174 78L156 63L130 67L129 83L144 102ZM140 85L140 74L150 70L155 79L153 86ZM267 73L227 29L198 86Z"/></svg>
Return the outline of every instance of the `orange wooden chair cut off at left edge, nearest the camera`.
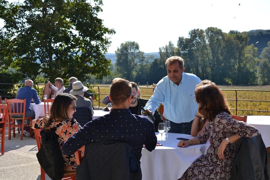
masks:
<svg viewBox="0 0 270 180"><path fill-rule="evenodd" d="M0 121L0 124L3 125L2 127L2 133L0 134L0 143L1 143L1 154L3 155L5 152L5 131L6 131L6 119L7 119L7 105L6 104L0 104L0 113L2 114L2 120Z"/></svg>

